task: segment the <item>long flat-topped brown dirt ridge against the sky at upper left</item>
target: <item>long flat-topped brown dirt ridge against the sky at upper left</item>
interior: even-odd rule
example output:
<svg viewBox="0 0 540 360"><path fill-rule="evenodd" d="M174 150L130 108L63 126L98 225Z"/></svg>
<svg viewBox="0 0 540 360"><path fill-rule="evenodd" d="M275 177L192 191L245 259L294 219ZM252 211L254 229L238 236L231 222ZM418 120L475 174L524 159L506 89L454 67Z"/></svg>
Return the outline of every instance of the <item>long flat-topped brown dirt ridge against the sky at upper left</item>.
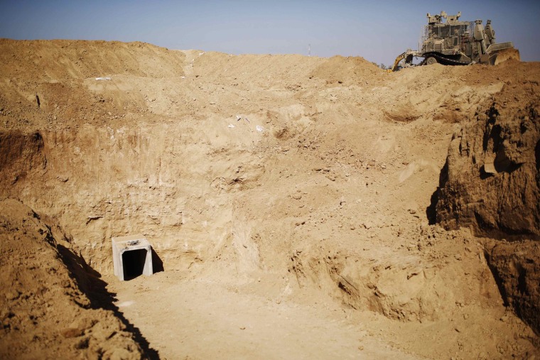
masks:
<svg viewBox="0 0 540 360"><path fill-rule="evenodd" d="M156 67L156 60L162 65ZM140 42L0 39L0 61L13 80L183 75L182 53Z"/></svg>

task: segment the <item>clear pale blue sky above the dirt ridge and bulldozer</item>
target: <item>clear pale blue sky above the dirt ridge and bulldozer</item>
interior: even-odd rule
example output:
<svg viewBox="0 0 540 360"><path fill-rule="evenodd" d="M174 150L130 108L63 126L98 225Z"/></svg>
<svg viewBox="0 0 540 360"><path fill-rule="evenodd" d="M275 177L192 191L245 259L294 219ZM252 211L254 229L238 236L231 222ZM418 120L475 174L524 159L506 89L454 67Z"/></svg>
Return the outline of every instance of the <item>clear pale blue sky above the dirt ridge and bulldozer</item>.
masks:
<svg viewBox="0 0 540 360"><path fill-rule="evenodd" d="M0 38L144 41L224 53L362 56L417 48L426 13L490 18L497 41L540 61L540 1L0 1Z"/></svg>

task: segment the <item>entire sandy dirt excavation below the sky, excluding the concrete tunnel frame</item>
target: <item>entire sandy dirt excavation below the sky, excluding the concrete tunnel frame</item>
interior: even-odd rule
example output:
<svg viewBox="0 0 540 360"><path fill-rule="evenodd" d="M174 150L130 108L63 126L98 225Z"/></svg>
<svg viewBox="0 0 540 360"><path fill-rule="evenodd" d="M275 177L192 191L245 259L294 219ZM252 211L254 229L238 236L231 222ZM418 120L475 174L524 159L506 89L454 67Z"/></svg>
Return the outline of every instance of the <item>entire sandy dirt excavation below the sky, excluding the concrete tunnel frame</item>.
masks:
<svg viewBox="0 0 540 360"><path fill-rule="evenodd" d="M6 357L538 356L538 64L0 48Z"/></svg>

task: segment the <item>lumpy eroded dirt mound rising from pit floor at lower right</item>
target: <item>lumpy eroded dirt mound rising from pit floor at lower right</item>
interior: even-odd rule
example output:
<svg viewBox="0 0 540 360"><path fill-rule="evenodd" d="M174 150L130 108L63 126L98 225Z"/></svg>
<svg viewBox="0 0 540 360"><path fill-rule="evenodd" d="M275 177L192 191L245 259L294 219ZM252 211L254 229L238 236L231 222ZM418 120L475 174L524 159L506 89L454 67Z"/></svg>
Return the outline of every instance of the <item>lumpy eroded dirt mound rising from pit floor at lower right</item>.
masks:
<svg viewBox="0 0 540 360"><path fill-rule="evenodd" d="M461 244L456 244L457 239ZM384 249L326 251L318 246L295 253L291 271L301 286L323 284L330 295L357 310L369 309L402 322L449 320L455 316L456 303L497 304L489 268L478 263L482 249L473 244L468 231L423 229L416 246L406 254L389 257ZM448 259L437 258L450 248L455 252L451 261L460 263L459 270ZM468 273L466 283L462 271Z"/></svg>

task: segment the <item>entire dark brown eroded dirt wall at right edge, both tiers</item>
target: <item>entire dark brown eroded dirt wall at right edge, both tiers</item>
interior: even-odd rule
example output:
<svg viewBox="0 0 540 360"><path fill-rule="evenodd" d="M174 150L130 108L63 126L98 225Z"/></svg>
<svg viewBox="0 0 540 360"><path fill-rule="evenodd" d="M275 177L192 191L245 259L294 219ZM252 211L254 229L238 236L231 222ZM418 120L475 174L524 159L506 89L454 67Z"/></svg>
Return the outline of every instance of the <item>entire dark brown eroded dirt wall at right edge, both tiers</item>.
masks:
<svg viewBox="0 0 540 360"><path fill-rule="evenodd" d="M540 331L540 97L505 85L455 133L435 198L437 221L491 236L486 253L504 301Z"/></svg>

